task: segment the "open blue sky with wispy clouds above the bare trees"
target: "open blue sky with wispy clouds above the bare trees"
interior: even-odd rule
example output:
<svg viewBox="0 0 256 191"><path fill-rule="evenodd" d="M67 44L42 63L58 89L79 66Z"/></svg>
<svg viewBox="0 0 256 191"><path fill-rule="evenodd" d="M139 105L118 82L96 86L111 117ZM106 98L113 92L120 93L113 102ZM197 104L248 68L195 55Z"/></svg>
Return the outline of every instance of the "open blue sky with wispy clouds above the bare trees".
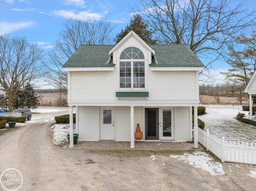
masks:
<svg viewBox="0 0 256 191"><path fill-rule="evenodd" d="M116 26L116 36L130 23L135 5L140 5L138 0L0 0L0 35L26 36L47 51L59 39L62 23L76 17L110 21ZM247 0L245 8L255 9L256 0ZM229 68L218 62L214 67L217 73Z"/></svg>

